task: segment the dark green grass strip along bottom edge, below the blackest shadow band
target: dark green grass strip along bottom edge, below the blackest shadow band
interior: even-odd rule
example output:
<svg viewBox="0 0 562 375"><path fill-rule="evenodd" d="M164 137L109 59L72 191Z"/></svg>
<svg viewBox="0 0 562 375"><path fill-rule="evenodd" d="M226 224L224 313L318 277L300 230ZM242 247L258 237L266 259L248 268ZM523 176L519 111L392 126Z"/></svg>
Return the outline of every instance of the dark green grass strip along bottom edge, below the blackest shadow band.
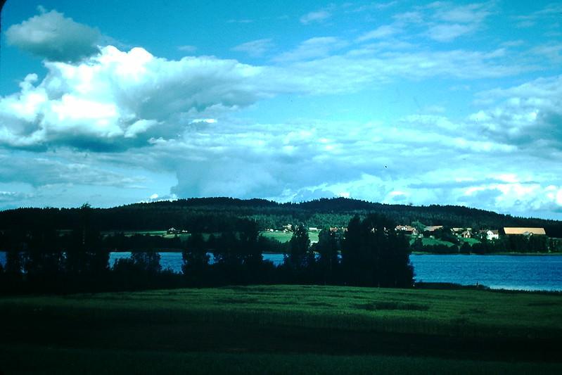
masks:
<svg viewBox="0 0 562 375"><path fill-rule="evenodd" d="M559 363L396 355L255 354L0 345L4 374L561 374Z"/></svg>

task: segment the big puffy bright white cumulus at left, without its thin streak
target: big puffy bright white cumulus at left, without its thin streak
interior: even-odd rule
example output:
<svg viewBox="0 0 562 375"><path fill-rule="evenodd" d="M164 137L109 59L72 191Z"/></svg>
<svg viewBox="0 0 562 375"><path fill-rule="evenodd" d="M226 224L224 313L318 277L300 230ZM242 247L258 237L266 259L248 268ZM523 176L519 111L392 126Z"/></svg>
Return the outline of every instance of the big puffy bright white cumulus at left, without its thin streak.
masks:
<svg viewBox="0 0 562 375"><path fill-rule="evenodd" d="M0 98L0 143L117 150L174 138L190 120L216 118L274 94L263 69L212 57L168 61L113 46L79 64L47 62L37 83ZM279 89L277 87L276 89Z"/></svg>

